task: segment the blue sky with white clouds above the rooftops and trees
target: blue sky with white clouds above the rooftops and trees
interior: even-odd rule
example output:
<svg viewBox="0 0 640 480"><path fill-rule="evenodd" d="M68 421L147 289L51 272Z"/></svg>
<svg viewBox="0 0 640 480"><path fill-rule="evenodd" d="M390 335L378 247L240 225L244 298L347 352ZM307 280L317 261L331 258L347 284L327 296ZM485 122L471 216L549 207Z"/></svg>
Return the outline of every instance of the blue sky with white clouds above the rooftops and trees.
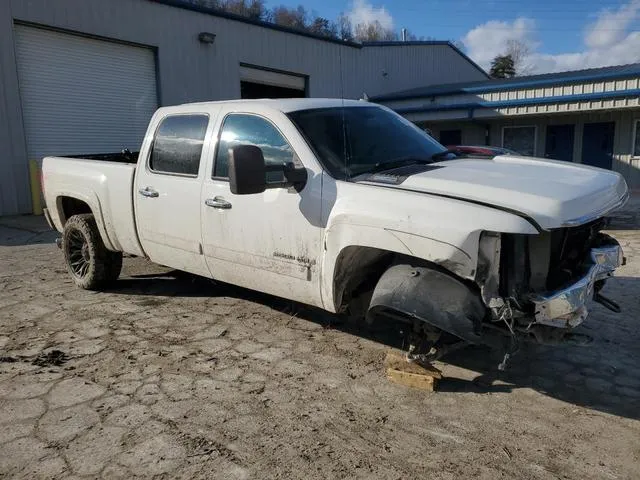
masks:
<svg viewBox="0 0 640 480"><path fill-rule="evenodd" d="M530 73L640 62L640 0L268 0L320 16L378 19L418 36L459 40L482 66L509 40L529 47Z"/></svg>

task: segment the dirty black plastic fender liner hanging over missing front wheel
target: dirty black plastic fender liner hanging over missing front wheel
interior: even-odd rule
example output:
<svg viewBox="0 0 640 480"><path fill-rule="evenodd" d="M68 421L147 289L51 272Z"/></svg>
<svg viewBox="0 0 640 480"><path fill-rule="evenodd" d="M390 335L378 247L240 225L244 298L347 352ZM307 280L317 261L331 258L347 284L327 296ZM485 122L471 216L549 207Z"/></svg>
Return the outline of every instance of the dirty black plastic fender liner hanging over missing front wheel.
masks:
<svg viewBox="0 0 640 480"><path fill-rule="evenodd" d="M406 264L390 267L376 285L367 319L371 322L385 310L421 320L469 343L483 343L486 309L480 296L439 270Z"/></svg>

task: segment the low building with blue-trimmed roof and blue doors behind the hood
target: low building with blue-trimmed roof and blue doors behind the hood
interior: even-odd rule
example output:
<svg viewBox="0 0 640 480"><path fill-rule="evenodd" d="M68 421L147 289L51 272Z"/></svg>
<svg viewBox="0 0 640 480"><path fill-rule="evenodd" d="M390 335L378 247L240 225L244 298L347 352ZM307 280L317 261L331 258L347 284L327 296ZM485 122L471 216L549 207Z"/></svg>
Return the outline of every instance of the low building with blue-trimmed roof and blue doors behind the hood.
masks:
<svg viewBox="0 0 640 480"><path fill-rule="evenodd" d="M640 64L424 86L372 100L445 145L494 145L622 173L640 188Z"/></svg>

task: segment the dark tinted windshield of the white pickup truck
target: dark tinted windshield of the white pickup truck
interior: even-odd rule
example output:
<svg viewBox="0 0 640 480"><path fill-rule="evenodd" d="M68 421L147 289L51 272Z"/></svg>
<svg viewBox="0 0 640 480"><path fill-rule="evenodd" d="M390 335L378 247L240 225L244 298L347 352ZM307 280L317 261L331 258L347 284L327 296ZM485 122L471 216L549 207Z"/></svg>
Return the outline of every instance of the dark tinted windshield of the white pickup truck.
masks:
<svg viewBox="0 0 640 480"><path fill-rule="evenodd" d="M380 107L332 107L288 114L334 178L351 178L406 163L431 162L446 149Z"/></svg>

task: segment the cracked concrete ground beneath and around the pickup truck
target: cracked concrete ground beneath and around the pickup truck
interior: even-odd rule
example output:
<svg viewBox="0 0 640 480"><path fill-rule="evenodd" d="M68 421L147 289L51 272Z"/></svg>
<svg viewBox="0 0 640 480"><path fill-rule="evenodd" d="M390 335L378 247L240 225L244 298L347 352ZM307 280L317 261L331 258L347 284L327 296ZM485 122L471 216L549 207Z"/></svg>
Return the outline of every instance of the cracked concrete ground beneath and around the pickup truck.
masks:
<svg viewBox="0 0 640 480"><path fill-rule="evenodd" d="M637 211L591 347L493 382L462 350L435 394L385 379L388 336L284 300L140 259L78 290L38 219L0 219L0 477L640 478Z"/></svg>

